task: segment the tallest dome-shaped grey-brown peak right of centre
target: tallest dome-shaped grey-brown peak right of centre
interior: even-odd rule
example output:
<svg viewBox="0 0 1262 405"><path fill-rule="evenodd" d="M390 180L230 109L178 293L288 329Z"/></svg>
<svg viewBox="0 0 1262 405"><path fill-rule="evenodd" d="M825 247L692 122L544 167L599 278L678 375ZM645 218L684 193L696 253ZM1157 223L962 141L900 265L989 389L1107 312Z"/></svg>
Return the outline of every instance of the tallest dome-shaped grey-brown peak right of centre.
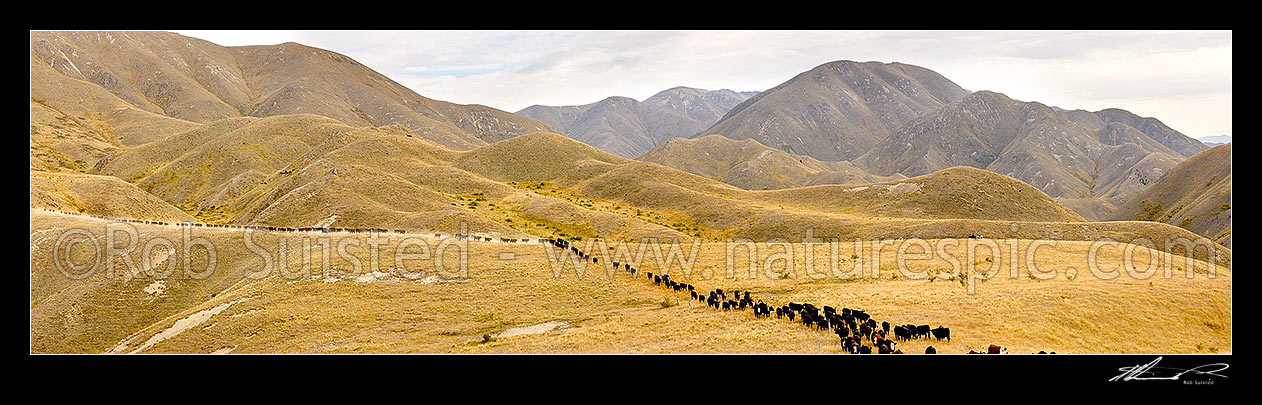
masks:
<svg viewBox="0 0 1262 405"><path fill-rule="evenodd" d="M916 116L965 95L916 66L829 62L750 97L695 136L722 134L819 160L852 160Z"/></svg>

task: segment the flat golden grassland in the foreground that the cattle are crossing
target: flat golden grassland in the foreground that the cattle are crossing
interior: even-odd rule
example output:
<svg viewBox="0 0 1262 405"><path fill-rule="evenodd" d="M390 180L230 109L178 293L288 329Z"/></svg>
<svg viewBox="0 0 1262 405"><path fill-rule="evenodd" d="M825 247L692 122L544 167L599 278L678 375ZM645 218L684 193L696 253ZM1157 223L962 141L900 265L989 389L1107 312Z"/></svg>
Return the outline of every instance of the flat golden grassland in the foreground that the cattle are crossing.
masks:
<svg viewBox="0 0 1262 405"><path fill-rule="evenodd" d="M262 259L245 249L241 233L199 228L194 237L216 244L217 271L203 280L178 276L158 280L144 273L134 278L97 274L85 281L67 280L49 262L54 236L69 227L103 235L105 225L83 217L32 212L32 349L34 352L130 352L167 333L143 352L838 352L837 338L787 320L756 319L748 312L722 313L689 302L683 293L651 288L642 276L607 267L551 267L548 247L540 245L468 244L468 270L456 270L457 250L445 256L445 271L429 261L408 261L394 267L398 240L381 250L385 264L379 274L355 269L337 254L324 261L319 245L292 249L286 262L298 276L278 271L250 279ZM151 237L179 240L179 230L136 225L139 241ZM351 235L328 233L333 245ZM273 257L281 238L294 235L257 232L252 240ZM901 349L921 352L933 344L943 353L963 353L987 344L1002 344L1013 353L1228 353L1230 342L1229 267L1217 266L1210 276L1203 261L1148 255L1127 245L1106 246L1097 254L1106 280L1089 271L1090 244L1061 241L1035 246L1031 241L996 241L998 251L970 240L928 240L943 245L941 254L910 260L909 271L897 271L896 244L839 244L817 246L814 270L805 269L803 244L757 244L751 274L743 249L733 250L728 273L722 244L703 244L692 273L678 265L659 267L652 249L637 260L641 271L668 273L699 289L748 290L769 303L813 302L858 308L891 323L941 324L952 328L952 342L911 341ZM430 246L437 241L430 241ZM958 244L949 246L949 244ZM295 242L297 244L297 242ZM1013 245L1016 249L1013 250ZM293 245L300 246L300 245ZM579 246L583 246L582 242ZM593 247L587 251L601 251ZM362 246L350 255L367 262ZM611 246L616 247L616 246ZM635 246L625 246L634 254ZM669 246L664 250L669 252ZM683 244L684 254L692 245ZM786 259L794 251L793 270ZM159 249L160 250L160 249ZM876 252L880 255L876 255ZM907 249L911 254L920 247ZM414 251L410 251L414 252ZM602 262L613 251L597 254ZM1015 255L1013 255L1015 252ZM87 257L86 251L78 251ZM437 252L432 252L437 256ZM511 256L510 260L505 260ZM139 254L131 255L140 260ZM201 249L193 250L193 269L204 269ZM684 257L688 257L685 255ZM837 269L829 269L837 257ZM880 257L877 262L876 257ZM175 260L172 256L167 260ZM627 261L626 256L620 257ZM300 265L309 261L305 271ZM959 265L953 265L958 261ZM1166 262L1171 276L1162 275ZM854 266L858 264L859 270ZM1135 276L1148 265L1156 275ZM591 264L588 264L591 265ZM873 267L877 270L873 274ZM1076 271L1069 276L1069 267ZM117 269L122 269L121 264ZM175 269L179 269L177 265ZM583 269L578 271L575 269ZM1013 270L1015 269L1015 270ZM1131 270L1127 270L1131 269ZM1188 274L1191 278L1188 278ZM413 273L419 271L419 273ZM1015 271L1016 276L1012 276ZM178 274L179 270L175 270ZM582 276L579 276L582 273ZM965 281L973 280L973 293ZM559 274L559 276L558 276ZM820 276L825 274L825 276ZM160 286L155 286L162 281ZM669 298L669 303L664 300ZM226 308L222 305L228 304ZM192 327L189 318L204 310L213 315ZM186 320L186 322L180 322ZM485 339L512 327L565 322L539 334ZM172 334L169 329L186 328Z"/></svg>

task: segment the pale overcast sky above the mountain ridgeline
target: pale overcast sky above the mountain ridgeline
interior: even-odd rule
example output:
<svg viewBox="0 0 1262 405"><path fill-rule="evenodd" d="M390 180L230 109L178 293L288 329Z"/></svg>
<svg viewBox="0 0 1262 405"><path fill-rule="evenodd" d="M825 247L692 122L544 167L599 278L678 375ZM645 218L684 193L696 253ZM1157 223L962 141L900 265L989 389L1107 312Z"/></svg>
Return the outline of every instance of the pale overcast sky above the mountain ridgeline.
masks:
<svg viewBox="0 0 1262 405"><path fill-rule="evenodd" d="M297 42L422 96L515 112L688 86L762 91L839 61L902 62L970 91L1232 134L1232 32L179 32L222 45Z"/></svg>

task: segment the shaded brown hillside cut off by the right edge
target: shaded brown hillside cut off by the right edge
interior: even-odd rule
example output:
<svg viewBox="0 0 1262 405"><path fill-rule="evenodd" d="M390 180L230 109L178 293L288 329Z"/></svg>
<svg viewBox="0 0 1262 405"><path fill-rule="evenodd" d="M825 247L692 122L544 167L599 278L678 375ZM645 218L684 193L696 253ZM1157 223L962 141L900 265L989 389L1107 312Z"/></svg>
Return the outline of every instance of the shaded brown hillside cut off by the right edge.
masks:
<svg viewBox="0 0 1262 405"><path fill-rule="evenodd" d="M1232 247L1232 145L1179 163L1119 207L1113 220L1165 222Z"/></svg>

